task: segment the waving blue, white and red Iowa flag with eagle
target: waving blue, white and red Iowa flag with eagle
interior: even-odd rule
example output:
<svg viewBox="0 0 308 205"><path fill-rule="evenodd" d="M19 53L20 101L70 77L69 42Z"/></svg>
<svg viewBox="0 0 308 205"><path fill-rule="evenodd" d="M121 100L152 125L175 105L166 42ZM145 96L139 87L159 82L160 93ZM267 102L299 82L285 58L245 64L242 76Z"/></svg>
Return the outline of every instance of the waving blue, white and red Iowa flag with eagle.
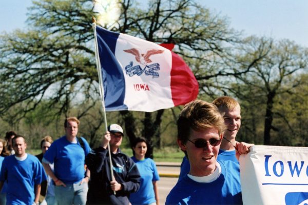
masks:
<svg viewBox="0 0 308 205"><path fill-rule="evenodd" d="M137 37L96 31L106 111L152 112L196 99L198 82L180 56Z"/></svg>

